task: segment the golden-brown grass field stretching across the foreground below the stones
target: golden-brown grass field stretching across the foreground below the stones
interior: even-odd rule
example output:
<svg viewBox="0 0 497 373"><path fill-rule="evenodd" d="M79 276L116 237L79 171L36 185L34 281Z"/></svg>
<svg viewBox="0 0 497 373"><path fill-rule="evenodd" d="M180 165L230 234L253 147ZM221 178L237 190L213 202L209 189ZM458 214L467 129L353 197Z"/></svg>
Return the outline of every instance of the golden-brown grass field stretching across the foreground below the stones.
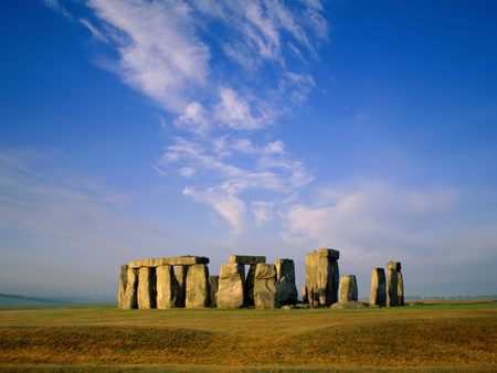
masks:
<svg viewBox="0 0 497 373"><path fill-rule="evenodd" d="M497 302L366 310L2 309L0 370L497 371Z"/></svg>

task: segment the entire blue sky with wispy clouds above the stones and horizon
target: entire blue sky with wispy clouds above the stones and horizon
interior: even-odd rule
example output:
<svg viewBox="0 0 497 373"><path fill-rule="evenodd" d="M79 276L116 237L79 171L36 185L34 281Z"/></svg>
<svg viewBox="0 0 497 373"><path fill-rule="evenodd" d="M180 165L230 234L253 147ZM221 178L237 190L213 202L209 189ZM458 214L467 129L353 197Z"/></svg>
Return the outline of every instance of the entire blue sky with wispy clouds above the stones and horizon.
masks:
<svg viewBox="0 0 497 373"><path fill-rule="evenodd" d="M18 1L0 10L0 291L117 266L403 263L497 292L494 1Z"/></svg>

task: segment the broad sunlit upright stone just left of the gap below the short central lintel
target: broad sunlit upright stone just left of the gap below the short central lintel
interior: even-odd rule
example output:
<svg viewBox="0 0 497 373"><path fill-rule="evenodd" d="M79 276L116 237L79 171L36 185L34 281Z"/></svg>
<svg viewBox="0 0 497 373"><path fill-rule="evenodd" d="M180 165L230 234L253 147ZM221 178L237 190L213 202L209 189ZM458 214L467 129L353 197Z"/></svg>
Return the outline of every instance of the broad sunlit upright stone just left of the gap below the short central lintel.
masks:
<svg viewBox="0 0 497 373"><path fill-rule="evenodd" d="M221 265L219 274L218 308L241 308L244 306L245 267L243 264Z"/></svg>

